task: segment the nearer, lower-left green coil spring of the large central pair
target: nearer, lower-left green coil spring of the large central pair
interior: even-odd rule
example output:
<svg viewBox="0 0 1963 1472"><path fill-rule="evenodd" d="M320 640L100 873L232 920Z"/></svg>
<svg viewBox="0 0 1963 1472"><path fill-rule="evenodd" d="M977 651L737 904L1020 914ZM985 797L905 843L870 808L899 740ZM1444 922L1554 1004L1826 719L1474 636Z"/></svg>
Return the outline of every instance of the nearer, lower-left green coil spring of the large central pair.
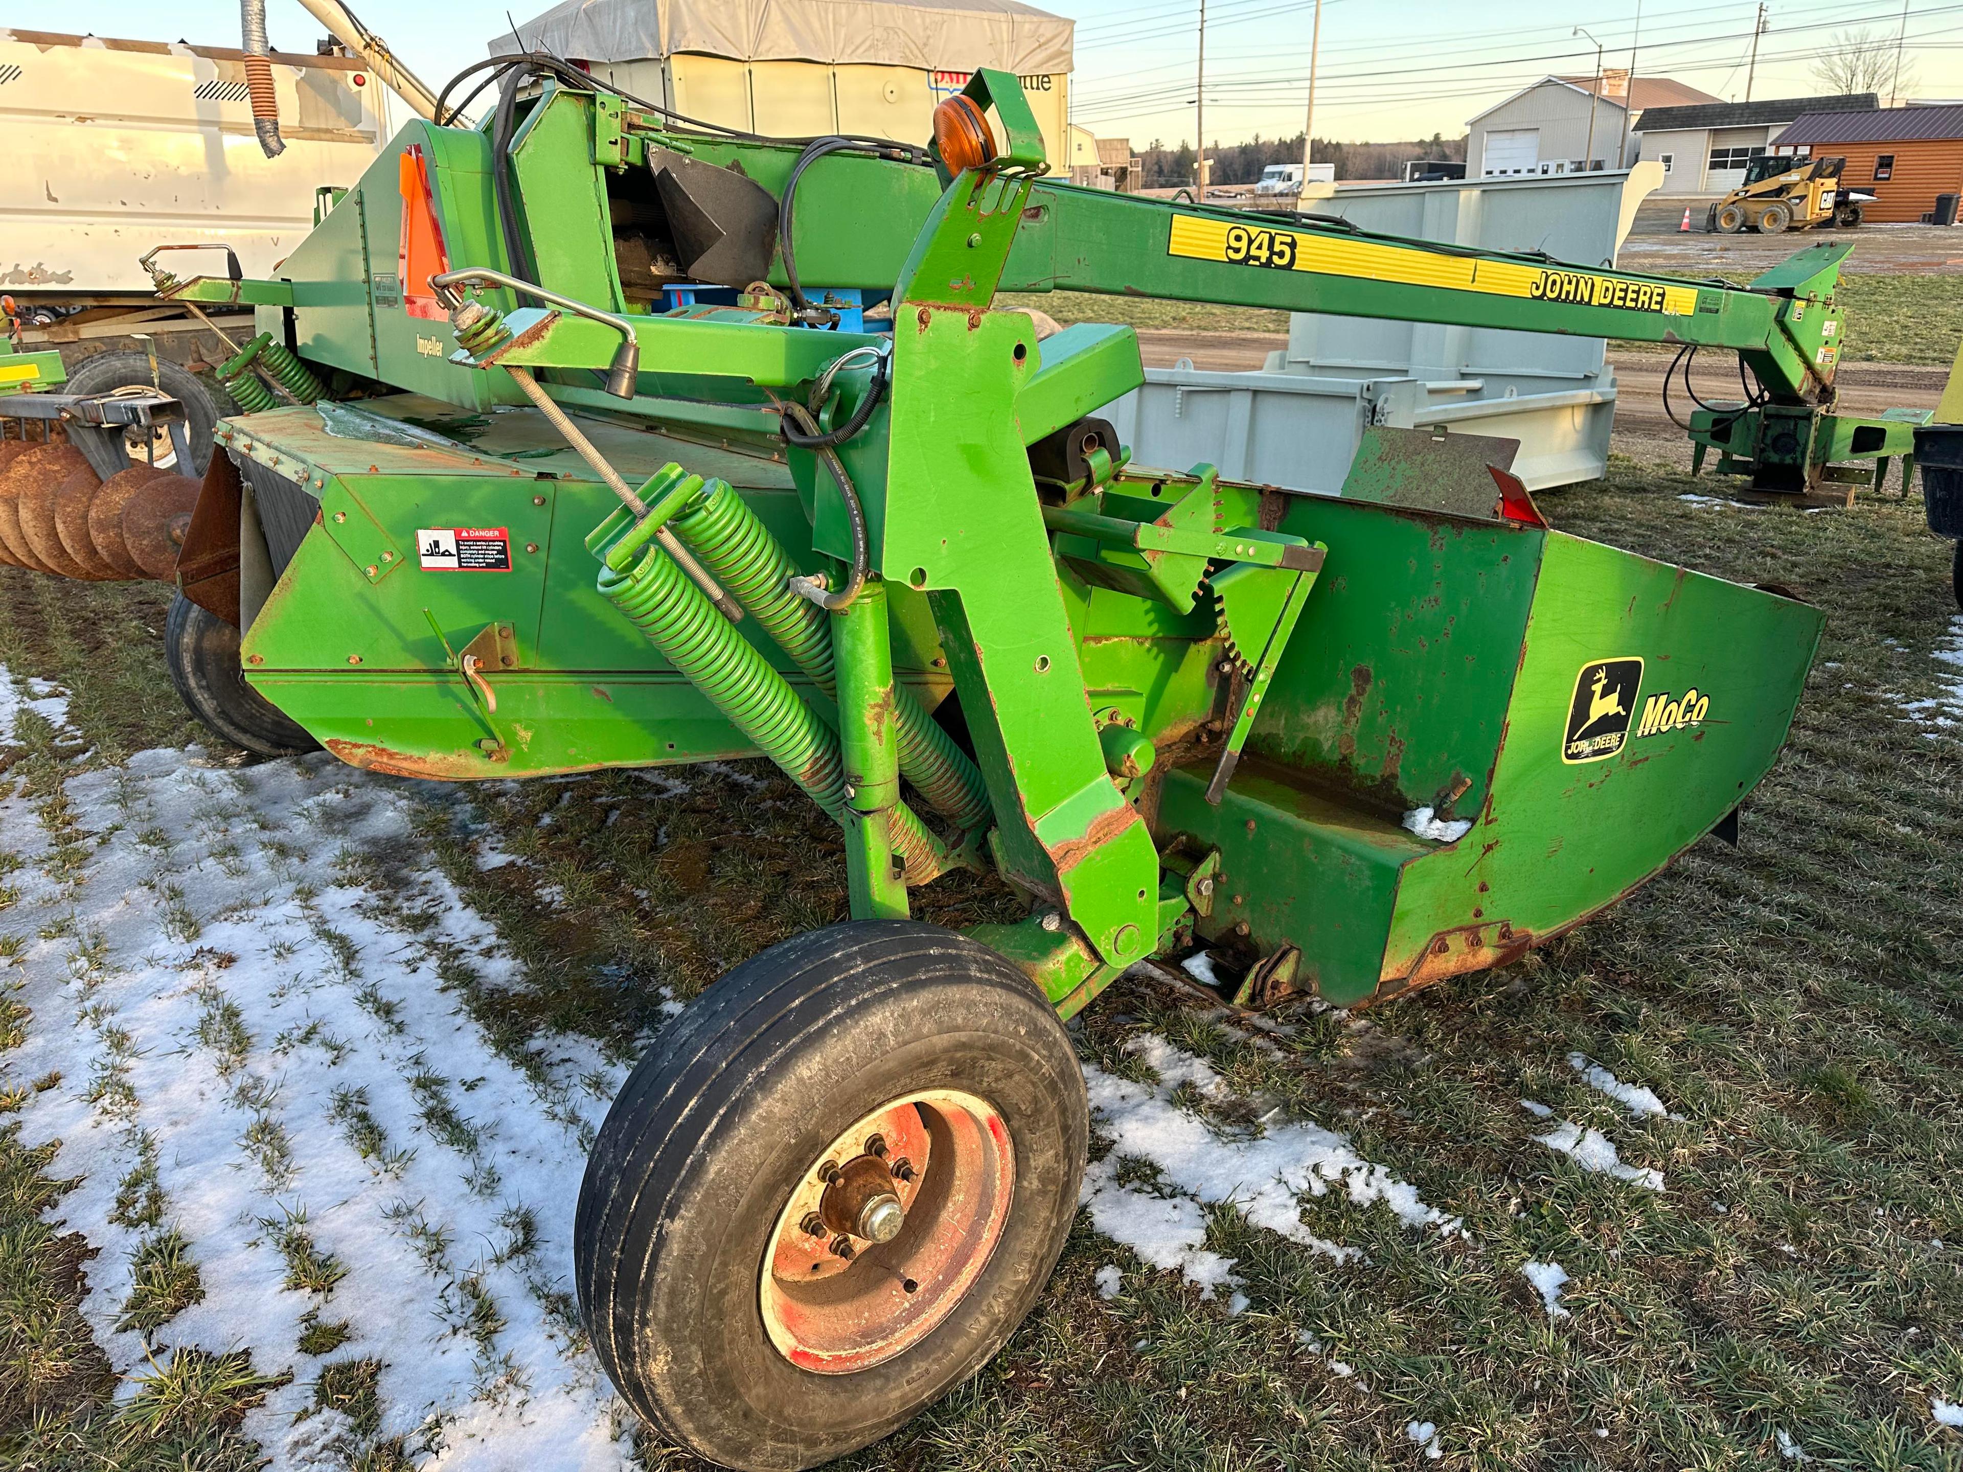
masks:
<svg viewBox="0 0 1963 1472"><path fill-rule="evenodd" d="M626 571L603 565L599 591L813 803L836 822L846 820L838 734L673 559L646 548ZM891 809L891 828L909 883L927 883L946 867L940 840L903 803Z"/></svg>

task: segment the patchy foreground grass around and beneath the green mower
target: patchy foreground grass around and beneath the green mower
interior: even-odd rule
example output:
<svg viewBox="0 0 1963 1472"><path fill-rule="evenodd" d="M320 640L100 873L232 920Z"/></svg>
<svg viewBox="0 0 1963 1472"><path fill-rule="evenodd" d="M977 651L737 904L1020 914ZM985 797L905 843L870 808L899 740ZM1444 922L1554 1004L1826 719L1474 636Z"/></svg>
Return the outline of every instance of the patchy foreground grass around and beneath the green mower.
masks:
<svg viewBox="0 0 1963 1472"><path fill-rule="evenodd" d="M1898 710L1941 671L1932 652L1955 616L1949 548L1922 526L1920 502L1863 497L1851 512L1804 516L1678 500L1714 489L1618 459L1608 481L1541 504L1566 530L1782 583L1828 612L1790 746L1745 805L1741 848L1698 844L1502 972L1358 1025L1303 1021L1278 1056L1141 981L1101 999L1078 1032L1101 1060L1141 1028L1166 1034L1258 1109L1282 1103L1345 1130L1462 1215L1466 1236L1419 1236L1382 1207L1321 1197L1309 1227L1364 1250L1333 1264L1215 1211L1209 1246L1239 1258L1250 1297L1229 1317L1080 1223L1007 1350L848 1466L1415 1466L1404 1427L1435 1421L1447 1468L1769 1468L1782 1464L1784 1431L1818 1466L1963 1470L1963 1437L1928 1413L1932 1393L1963 1395L1963 746ZM12 577L0 573L0 589ZM63 677L18 630L0 632L0 648L16 669ZM80 718L106 742L86 724L94 714ZM122 718L126 744L167 740ZM35 771L39 801L57 803ZM522 1066L556 1032L579 1032L626 1058L662 1019L663 989L689 997L844 913L836 834L785 781L760 763L675 777L681 789L628 773L473 789L467 807L432 803L412 842L349 854L347 877L414 932L418 913L434 915L414 885L434 854L528 968L522 983L493 985L467 954L424 942L497 1046ZM528 864L477 869L487 840ZM546 903L546 885L563 899ZM972 877L919 901L950 924L1015 911ZM1580 1085L1570 1050L1655 1087L1684 1121L1629 1123ZM446 1095L434 1081L426 1093L430 1136L414 1144L451 1148ZM1535 1144L1545 1127L1523 1095L1612 1129L1623 1158L1663 1170L1669 1189L1584 1174ZM349 1093L340 1125L381 1170L410 1142L365 1117ZM67 1437L118 1464L143 1425L147 1464L190 1445L216 1450L188 1464L238 1464L226 1427L261 1393L249 1366L226 1370L232 1388L208 1399L175 1390L169 1417L104 1409L106 1366L73 1313L73 1248L8 1235L31 1227L59 1183L45 1152L10 1154L8 1140L0 1132L0 1407L10 1384L39 1386L45 1429L8 1433L0 1419L0 1462L84 1464L53 1452ZM143 1211L141 1180L130 1197ZM512 1223L499 1250L522 1252L526 1236ZM442 1258L450 1244L426 1248ZM1570 1319L1549 1323L1519 1274L1527 1258L1572 1274ZM1107 1301L1091 1280L1109 1262L1125 1278ZM469 1284L455 1307L465 1327L495 1313ZM51 1325L33 1331L49 1346L39 1358L18 1323ZM310 1327L306 1342L332 1352L334 1329ZM1335 1374L1331 1356L1354 1374ZM377 1415L369 1362L324 1366L316 1405L344 1409L375 1464L400 1458L361 1433ZM656 1445L642 1456L695 1466Z"/></svg>

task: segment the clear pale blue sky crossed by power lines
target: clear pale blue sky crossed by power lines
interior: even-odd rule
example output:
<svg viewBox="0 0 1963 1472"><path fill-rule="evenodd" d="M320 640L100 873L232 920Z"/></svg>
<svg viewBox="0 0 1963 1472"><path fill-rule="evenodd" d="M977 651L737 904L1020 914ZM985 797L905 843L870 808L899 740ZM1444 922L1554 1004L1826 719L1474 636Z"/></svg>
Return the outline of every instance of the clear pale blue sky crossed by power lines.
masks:
<svg viewBox="0 0 1963 1472"><path fill-rule="evenodd" d="M503 6L418 0L414 6L353 0L355 14L426 80L440 86L485 55L506 27ZM528 20L542 0L512 6ZM1052 0L1078 22L1072 112L1103 135L1135 143L1194 137L1197 0ZM273 45L312 51L320 24L296 0L269 0ZM1757 0L1647 0L1639 73L1661 73L1722 98L1745 96ZM1207 0L1207 139L1235 143L1301 130L1307 102L1305 0ZM1902 0L1767 0L1771 29L1759 39L1755 98L1818 92L1814 57L1835 35L1869 29L1890 43ZM1908 0L1904 96L1963 98L1963 0ZM1588 75L1627 67L1633 0L1572 0L1549 10L1531 0L1323 0L1315 131L1339 139L1455 137L1474 114L1549 73ZM234 0L0 0L0 26L92 31L151 41L238 45ZM1886 96L1883 98L1886 104Z"/></svg>

